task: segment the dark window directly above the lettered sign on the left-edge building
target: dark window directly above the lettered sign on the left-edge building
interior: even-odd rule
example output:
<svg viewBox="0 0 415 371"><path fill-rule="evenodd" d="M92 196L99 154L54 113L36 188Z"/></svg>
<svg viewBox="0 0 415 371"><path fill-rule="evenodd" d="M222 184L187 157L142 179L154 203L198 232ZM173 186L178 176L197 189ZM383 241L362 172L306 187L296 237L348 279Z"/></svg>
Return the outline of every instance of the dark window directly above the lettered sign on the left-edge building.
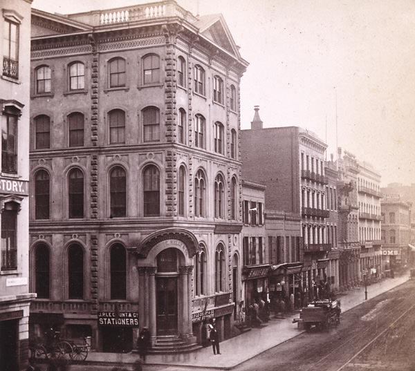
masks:
<svg viewBox="0 0 415 371"><path fill-rule="evenodd" d="M1 171L17 173L17 115L9 113L1 120Z"/></svg>

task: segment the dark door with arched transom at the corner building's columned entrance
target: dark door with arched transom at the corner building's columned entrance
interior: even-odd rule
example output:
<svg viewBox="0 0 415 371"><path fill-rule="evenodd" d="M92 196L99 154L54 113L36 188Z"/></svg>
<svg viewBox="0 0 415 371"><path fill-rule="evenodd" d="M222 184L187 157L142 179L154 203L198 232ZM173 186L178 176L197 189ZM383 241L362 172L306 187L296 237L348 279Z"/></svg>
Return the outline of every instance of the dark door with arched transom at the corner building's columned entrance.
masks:
<svg viewBox="0 0 415 371"><path fill-rule="evenodd" d="M156 326L157 336L178 331L178 253L169 247L157 255Z"/></svg>

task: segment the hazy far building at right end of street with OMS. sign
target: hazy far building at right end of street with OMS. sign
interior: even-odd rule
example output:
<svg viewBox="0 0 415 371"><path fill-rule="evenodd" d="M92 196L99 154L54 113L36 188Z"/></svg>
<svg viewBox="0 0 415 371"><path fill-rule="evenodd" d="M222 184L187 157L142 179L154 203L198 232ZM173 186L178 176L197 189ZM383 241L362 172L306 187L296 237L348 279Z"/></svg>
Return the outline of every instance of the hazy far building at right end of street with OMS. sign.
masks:
<svg viewBox="0 0 415 371"><path fill-rule="evenodd" d="M411 207L399 195L384 195L381 200L382 213L382 267L394 272L403 270L412 263L411 251Z"/></svg>

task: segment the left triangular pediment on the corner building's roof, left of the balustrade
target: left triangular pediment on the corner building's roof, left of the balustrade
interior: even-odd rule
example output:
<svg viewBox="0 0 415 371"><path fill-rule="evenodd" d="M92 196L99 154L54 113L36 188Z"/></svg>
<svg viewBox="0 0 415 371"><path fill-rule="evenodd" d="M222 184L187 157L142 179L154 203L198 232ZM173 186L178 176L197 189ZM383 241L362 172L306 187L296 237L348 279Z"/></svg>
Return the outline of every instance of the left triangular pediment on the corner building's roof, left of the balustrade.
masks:
<svg viewBox="0 0 415 371"><path fill-rule="evenodd" d="M68 19L64 15L32 9L32 37L62 35L87 30L91 30L91 26Z"/></svg>

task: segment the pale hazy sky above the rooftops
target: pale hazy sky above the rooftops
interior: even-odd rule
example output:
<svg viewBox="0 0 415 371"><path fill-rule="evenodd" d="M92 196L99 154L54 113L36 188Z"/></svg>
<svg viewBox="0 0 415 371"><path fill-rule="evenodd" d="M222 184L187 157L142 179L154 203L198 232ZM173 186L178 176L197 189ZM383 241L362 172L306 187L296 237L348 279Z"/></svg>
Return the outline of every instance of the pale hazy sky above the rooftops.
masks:
<svg viewBox="0 0 415 371"><path fill-rule="evenodd" d="M194 15L222 13L249 62L241 128L254 106L264 127L301 126L369 162L381 185L415 183L415 1L176 0ZM68 14L142 0L34 0Z"/></svg>

